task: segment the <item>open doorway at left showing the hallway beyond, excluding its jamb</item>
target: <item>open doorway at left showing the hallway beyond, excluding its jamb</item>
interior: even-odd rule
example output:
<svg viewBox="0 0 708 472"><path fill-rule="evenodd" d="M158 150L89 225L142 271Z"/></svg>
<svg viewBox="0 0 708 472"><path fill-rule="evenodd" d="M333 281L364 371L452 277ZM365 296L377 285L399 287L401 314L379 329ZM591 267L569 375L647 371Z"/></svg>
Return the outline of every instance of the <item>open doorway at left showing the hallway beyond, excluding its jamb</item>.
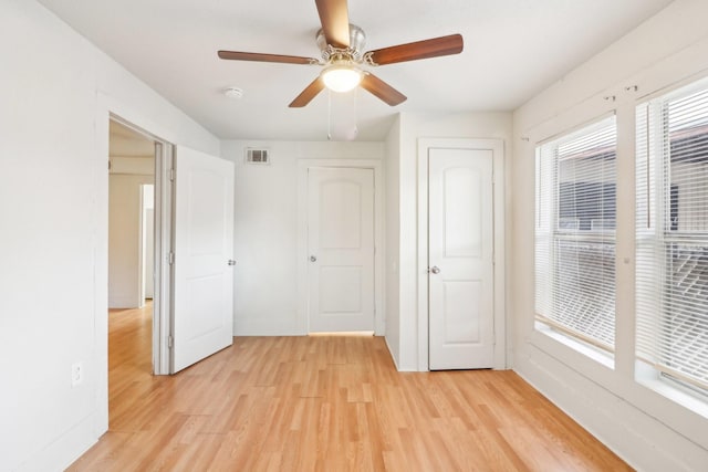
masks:
<svg viewBox="0 0 708 472"><path fill-rule="evenodd" d="M155 143L131 127L108 124L108 411L122 365L129 377L152 374ZM119 354L118 354L119 353Z"/></svg>

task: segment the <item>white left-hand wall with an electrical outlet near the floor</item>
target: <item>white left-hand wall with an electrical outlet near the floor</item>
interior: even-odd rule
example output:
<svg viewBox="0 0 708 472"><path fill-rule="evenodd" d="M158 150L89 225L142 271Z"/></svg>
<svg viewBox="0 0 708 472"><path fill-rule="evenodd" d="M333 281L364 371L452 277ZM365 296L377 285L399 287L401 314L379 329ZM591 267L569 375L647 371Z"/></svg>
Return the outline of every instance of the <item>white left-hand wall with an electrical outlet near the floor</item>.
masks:
<svg viewBox="0 0 708 472"><path fill-rule="evenodd" d="M219 141L39 3L0 31L0 470L62 470L107 428L108 112Z"/></svg>

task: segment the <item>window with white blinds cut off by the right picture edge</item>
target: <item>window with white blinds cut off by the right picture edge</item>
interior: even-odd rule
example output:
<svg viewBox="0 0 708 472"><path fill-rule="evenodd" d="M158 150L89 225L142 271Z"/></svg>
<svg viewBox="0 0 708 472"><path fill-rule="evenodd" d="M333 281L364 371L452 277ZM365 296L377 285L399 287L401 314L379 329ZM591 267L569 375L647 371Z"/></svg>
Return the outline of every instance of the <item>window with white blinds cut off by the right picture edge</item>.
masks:
<svg viewBox="0 0 708 472"><path fill-rule="evenodd" d="M637 359L708 392L708 84L636 116Z"/></svg>

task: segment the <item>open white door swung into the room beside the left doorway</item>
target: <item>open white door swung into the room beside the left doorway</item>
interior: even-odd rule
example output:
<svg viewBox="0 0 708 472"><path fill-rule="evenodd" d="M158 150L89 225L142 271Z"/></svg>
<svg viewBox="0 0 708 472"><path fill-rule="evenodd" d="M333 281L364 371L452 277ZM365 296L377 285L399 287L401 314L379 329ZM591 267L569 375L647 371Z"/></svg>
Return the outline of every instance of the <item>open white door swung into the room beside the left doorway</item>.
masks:
<svg viewBox="0 0 708 472"><path fill-rule="evenodd" d="M176 148L173 371L233 342L233 164Z"/></svg>

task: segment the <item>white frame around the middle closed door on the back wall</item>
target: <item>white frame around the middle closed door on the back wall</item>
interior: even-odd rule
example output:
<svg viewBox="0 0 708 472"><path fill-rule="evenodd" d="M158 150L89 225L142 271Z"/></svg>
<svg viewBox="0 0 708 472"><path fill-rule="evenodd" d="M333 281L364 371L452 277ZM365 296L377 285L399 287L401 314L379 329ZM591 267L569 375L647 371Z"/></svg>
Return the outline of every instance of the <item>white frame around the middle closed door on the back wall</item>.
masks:
<svg viewBox="0 0 708 472"><path fill-rule="evenodd" d="M384 166L375 159L299 159L298 160L298 313L295 331L309 333L308 318L308 171L310 168L342 168L374 170L374 335L385 333L384 313Z"/></svg>

